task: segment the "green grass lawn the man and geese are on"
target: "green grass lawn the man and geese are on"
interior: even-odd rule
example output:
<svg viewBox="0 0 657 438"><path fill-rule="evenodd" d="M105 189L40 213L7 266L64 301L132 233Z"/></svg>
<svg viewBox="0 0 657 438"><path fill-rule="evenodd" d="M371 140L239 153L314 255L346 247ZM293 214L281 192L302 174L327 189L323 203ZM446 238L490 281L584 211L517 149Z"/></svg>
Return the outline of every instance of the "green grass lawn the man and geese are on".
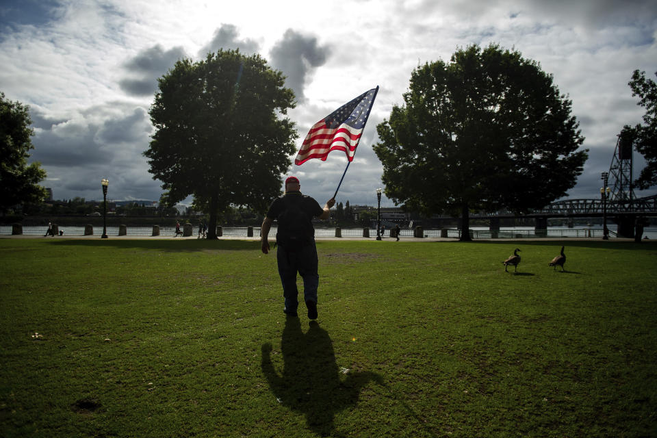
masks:
<svg viewBox="0 0 657 438"><path fill-rule="evenodd" d="M657 436L657 244L564 242L318 242L309 323L258 242L0 239L0 436Z"/></svg>

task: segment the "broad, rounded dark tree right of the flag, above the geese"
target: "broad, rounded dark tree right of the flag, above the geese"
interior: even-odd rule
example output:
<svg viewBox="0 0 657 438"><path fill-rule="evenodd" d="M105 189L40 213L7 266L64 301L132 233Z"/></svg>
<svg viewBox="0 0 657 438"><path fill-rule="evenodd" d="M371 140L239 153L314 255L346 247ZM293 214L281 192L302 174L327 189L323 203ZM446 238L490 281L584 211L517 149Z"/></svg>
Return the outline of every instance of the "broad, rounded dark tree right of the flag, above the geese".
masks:
<svg viewBox="0 0 657 438"><path fill-rule="evenodd" d="M404 105L378 125L385 194L423 214L518 213L565 196L587 151L571 101L517 51L460 49L413 70Z"/></svg>

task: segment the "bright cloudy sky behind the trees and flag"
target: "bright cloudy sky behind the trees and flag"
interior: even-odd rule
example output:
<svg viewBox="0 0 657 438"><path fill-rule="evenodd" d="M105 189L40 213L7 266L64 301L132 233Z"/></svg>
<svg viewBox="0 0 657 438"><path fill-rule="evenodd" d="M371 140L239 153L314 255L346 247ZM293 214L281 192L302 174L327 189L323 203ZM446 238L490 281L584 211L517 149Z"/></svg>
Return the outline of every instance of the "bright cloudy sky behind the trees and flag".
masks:
<svg viewBox="0 0 657 438"><path fill-rule="evenodd" d="M176 60L220 47L260 53L296 93L299 144L313 123L380 86L337 197L374 205L376 125L402 103L413 68L493 42L540 62L573 101L590 152L569 196L591 198L617 133L641 121L627 83L636 68L655 79L656 36L654 0L0 0L0 91L30 106L32 159L55 198L101 199L107 177L112 199L157 200L142 153L156 79ZM345 166L336 151L289 174L324 202Z"/></svg>

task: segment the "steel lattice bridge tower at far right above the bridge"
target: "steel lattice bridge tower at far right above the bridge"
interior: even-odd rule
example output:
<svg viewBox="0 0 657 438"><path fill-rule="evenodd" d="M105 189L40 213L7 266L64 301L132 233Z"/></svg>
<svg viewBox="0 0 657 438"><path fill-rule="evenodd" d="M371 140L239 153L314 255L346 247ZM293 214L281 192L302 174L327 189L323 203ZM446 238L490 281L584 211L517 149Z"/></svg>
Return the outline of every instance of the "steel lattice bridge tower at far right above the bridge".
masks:
<svg viewBox="0 0 657 438"><path fill-rule="evenodd" d="M634 189L632 188L632 132L623 128L616 141L616 150L609 167L611 193L610 203L618 211L632 211L634 202Z"/></svg>

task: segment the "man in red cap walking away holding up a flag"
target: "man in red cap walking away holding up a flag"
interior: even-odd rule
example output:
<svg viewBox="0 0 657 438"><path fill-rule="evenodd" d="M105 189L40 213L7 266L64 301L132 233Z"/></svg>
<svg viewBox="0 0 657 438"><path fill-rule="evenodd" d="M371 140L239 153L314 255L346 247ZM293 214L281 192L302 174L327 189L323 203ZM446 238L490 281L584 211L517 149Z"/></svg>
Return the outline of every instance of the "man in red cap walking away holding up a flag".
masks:
<svg viewBox="0 0 657 438"><path fill-rule="evenodd" d="M274 220L278 220L276 244L279 248L276 251L276 261L285 298L283 312L290 317L297 315L296 273L298 272L303 279L303 298L308 309L308 318L316 320L320 276L312 218L328 219L329 211L335 205L335 199L326 201L326 205L322 208L314 198L301 194L300 189L301 185L296 177L285 180L285 194L274 199L262 222L261 249L264 254L269 253L269 230Z"/></svg>

